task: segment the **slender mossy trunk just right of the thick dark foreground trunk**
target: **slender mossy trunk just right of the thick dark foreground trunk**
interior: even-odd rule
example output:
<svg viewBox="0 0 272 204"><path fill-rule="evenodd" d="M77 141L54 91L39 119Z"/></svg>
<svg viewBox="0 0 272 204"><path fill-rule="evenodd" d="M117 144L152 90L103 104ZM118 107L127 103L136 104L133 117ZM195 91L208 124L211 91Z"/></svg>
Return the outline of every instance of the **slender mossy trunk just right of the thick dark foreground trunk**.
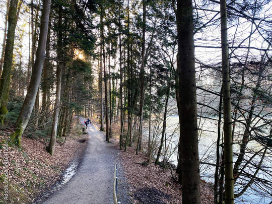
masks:
<svg viewBox="0 0 272 204"><path fill-rule="evenodd" d="M220 1L220 13L221 13L221 46L222 46L222 77L223 77L223 113L224 113L225 203L233 204L234 203L233 150L232 150L229 46L228 46L226 0Z"/></svg>

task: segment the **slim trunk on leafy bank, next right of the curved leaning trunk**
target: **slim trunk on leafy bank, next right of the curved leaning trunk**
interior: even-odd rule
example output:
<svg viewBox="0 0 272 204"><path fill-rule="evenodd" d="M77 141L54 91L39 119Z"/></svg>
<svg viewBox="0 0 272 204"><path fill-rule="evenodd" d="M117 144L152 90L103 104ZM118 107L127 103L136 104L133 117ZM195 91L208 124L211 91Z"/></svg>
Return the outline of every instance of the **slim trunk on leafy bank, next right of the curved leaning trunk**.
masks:
<svg viewBox="0 0 272 204"><path fill-rule="evenodd" d="M58 7L58 40L57 40L57 58L60 59L62 57L62 6ZM51 135L50 135L50 142L47 147L47 152L50 155L54 155L55 153L55 142L56 142L56 135L57 135L57 124L58 124L58 115L59 115L59 105L60 105L60 90L61 90L61 67L60 62L57 63L56 66L56 98L55 98L55 105L54 105L54 112L52 118L52 128L51 128Z"/></svg>

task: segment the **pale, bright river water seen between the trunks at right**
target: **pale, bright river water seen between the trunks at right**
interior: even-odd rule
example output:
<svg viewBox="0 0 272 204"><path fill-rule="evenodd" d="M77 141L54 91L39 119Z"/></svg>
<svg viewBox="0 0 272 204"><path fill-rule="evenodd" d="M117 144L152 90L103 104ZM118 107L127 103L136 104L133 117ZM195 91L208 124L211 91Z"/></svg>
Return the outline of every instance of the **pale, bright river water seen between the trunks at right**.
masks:
<svg viewBox="0 0 272 204"><path fill-rule="evenodd" d="M172 162L172 164L177 164L177 145L178 145L178 139L179 139L179 118L178 115L169 116L167 118L167 129L166 129L166 137L167 141L165 143L166 147L168 149L167 158L169 161ZM160 124L162 126L162 123ZM222 125L223 126L223 125ZM217 138L218 138L218 121L216 118L214 119L198 119L198 135L199 135L199 144L198 144L198 150L199 150L199 160L200 162L210 163L210 164L216 164L216 144L217 144ZM264 130L265 132L266 130ZM147 132L147 131L146 131ZM154 131L153 131L154 132ZM160 131L159 131L160 132ZM222 130L221 130L222 132ZM239 153L240 145L238 144L239 141L238 138L241 138L241 134L244 132L243 125L236 124L235 127L235 134L234 134L234 145L233 145L233 152L234 157L233 161L235 162L237 160L236 154ZM240 137L239 137L240 136ZM157 140L161 137L161 134L157 136ZM221 144L223 143L223 140L221 138ZM250 158L254 155L256 151L260 151L263 146L259 145L255 141L251 141L248 143L245 159L250 160ZM171 152L172 150L172 152ZM265 160L262 163L262 167L267 170L271 170L272 162L270 160L269 155L271 156L271 151L267 150L265 157ZM251 160L251 164L249 164L248 168L245 168L244 172L250 173L253 175L256 170L256 166L258 165L259 161L261 159L260 156L255 156ZM202 180L205 180L209 183L214 183L214 173L215 172L215 166L213 165L207 165L207 164L200 164L200 178ZM258 179L265 179L265 180L272 180L271 174L259 170L258 174L256 175ZM250 179L247 177L241 177L241 179L238 179L236 181L235 185L235 193L238 193L242 190L243 183L247 183ZM272 191L270 184L267 184L267 186L262 186L262 183L260 182L254 182L247 190L246 192L239 196L238 198L235 198L235 203L259 203L259 204L267 204L272 201ZM269 196L270 194L270 196Z"/></svg>

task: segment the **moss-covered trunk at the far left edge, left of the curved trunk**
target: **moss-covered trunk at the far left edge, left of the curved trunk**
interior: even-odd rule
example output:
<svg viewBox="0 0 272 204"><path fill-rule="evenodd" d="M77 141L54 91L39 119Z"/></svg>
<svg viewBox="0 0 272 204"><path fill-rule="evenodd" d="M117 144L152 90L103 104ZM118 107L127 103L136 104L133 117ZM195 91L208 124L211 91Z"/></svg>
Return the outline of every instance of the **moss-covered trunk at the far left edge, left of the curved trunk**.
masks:
<svg viewBox="0 0 272 204"><path fill-rule="evenodd" d="M10 92L11 82L11 70L13 61L13 48L14 48L14 37L16 29L16 11L17 11L18 0L11 0L8 17L8 33L6 39L6 47L4 54L3 72L0 79L0 122L4 124L4 119L8 113L7 105Z"/></svg>

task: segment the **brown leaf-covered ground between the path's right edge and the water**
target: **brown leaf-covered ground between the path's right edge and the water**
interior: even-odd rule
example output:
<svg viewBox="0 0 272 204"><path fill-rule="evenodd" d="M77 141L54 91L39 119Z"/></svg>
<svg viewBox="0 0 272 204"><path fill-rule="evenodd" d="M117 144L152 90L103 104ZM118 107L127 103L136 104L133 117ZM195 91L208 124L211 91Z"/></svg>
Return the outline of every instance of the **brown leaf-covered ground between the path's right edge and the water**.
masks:
<svg viewBox="0 0 272 204"><path fill-rule="evenodd" d="M119 126L114 126L113 132L116 137L119 134ZM119 149L119 140L111 139ZM156 203L156 204L178 204L182 203L182 192L180 185L173 179L170 169L163 171L161 166L154 162L144 165L146 157L143 153L135 154L134 148L128 147L127 151L120 151L119 154L124 176L129 183L127 193L132 197L133 203ZM175 170L172 172L175 178ZM211 184L201 182L201 203L214 203L214 192Z"/></svg>

